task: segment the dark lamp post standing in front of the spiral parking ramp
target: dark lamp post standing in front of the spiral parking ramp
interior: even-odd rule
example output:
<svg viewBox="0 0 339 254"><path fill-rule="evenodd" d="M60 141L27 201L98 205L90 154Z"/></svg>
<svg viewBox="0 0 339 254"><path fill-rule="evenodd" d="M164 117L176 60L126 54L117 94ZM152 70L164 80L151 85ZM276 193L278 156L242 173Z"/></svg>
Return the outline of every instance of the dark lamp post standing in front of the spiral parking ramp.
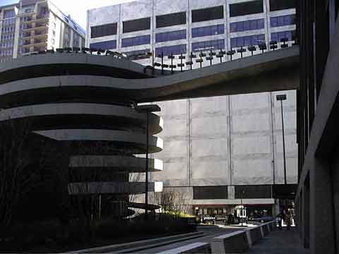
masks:
<svg viewBox="0 0 339 254"><path fill-rule="evenodd" d="M160 111L160 107L156 104L148 104L134 107L138 113L146 114L146 164L145 164L145 220L148 219L148 121L150 112Z"/></svg>

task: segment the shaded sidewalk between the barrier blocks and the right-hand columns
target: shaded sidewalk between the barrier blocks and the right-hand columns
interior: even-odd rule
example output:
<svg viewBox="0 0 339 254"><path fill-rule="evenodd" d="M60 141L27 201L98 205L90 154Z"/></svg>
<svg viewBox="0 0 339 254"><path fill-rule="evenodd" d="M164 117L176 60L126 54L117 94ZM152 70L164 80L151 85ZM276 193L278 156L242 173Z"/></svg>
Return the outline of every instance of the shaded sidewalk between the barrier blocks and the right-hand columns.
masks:
<svg viewBox="0 0 339 254"><path fill-rule="evenodd" d="M287 231L283 230L271 231L268 236L264 237L252 246L246 253L260 254L309 254L309 250L302 248L302 243L299 241L299 235L295 227Z"/></svg>

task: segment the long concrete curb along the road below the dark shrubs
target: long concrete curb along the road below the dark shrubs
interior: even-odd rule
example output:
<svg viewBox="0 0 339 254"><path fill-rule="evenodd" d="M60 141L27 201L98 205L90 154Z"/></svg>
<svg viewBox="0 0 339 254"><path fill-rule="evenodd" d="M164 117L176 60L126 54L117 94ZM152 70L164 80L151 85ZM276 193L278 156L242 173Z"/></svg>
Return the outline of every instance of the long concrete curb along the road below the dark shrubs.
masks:
<svg viewBox="0 0 339 254"><path fill-rule="evenodd" d="M119 243L114 244L111 246L102 246L98 248L88 248L85 250L75 250L71 251L69 253L108 253L108 252L116 252L118 250L122 250L125 248L136 248L141 246L147 246L155 243L162 243L164 241L175 241L177 242L178 239L180 241L185 241L188 237L194 237L194 236L203 236L203 232L193 232L193 233L187 233L187 234L177 234L174 236L165 236L160 238L153 238L148 240L142 240L142 241L133 241L131 243Z"/></svg>

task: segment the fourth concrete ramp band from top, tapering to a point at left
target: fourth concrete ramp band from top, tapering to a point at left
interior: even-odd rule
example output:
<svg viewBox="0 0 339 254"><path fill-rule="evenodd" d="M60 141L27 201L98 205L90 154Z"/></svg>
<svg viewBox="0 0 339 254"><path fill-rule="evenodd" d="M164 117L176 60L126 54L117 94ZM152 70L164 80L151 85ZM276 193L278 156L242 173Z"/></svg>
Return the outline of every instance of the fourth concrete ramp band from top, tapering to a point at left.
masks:
<svg viewBox="0 0 339 254"><path fill-rule="evenodd" d="M137 147L141 147L141 150L143 151L140 151L139 153L143 154L145 153L144 150L146 148L145 133L99 129L61 129L51 131L35 131L35 133L58 141L112 141L122 145L125 144L125 148L130 149L133 153L138 153ZM162 139L151 135L148 138L149 152L160 152L162 149Z"/></svg>

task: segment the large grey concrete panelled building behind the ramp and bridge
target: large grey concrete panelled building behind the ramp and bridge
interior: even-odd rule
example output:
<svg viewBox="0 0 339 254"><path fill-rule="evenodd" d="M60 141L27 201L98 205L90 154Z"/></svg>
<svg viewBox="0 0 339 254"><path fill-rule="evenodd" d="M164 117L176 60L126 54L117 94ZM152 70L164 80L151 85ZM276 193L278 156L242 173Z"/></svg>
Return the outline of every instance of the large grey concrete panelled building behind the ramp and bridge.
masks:
<svg viewBox="0 0 339 254"><path fill-rule="evenodd" d="M128 56L153 52L164 63L199 54L295 40L294 0L139 0L88 11L86 45ZM250 56L244 52L243 56ZM230 56L224 56L230 61ZM237 59L240 54L234 54ZM140 58L140 57L139 57ZM152 58L136 60L152 65ZM212 63L220 59L213 56ZM202 66L210 61L203 57ZM191 66L185 65L184 69ZM180 68L177 67L177 70ZM226 84L227 85L227 84ZM284 184L280 102L283 93L287 185ZM247 214L274 214L293 199L297 183L296 92L264 92L157 102L165 128L164 170L151 178L186 195L200 214L230 214L244 203ZM286 198L287 200L283 200ZM284 202L283 202L284 201Z"/></svg>

